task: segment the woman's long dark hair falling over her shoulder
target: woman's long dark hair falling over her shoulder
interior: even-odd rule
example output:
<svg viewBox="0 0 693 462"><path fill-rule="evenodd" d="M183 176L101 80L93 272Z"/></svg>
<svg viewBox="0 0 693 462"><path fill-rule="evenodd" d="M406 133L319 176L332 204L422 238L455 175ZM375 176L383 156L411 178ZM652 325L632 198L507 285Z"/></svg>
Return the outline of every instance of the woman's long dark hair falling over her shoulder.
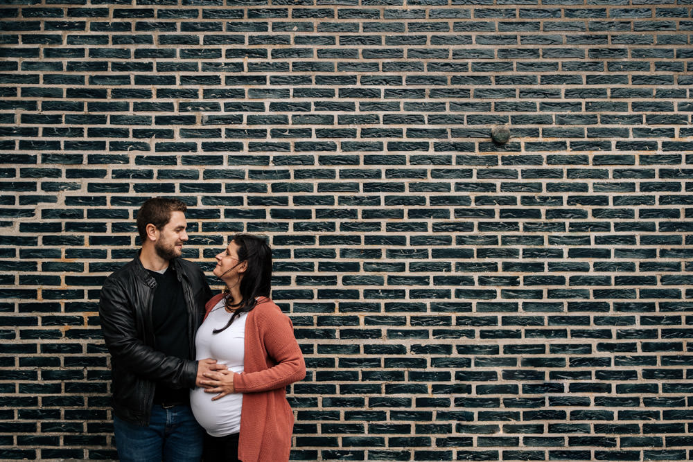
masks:
<svg viewBox="0 0 693 462"><path fill-rule="evenodd" d="M240 280L240 300L231 299L228 287L224 290L227 293L225 298L225 308L234 314L226 326L215 329L215 334L222 332L241 313L249 312L257 305L256 298L259 296L270 297L272 291L272 249L267 245L267 240L250 234L236 234L231 241L238 245L238 263L247 263L243 278Z"/></svg>

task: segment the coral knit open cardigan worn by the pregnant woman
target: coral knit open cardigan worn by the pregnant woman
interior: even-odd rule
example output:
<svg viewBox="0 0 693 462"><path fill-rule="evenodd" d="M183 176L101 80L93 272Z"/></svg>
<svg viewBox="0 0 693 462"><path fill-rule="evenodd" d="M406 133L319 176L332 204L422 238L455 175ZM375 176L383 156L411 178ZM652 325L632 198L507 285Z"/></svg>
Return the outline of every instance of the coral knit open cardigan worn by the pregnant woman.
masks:
<svg viewBox="0 0 693 462"><path fill-rule="evenodd" d="M207 302L207 313L223 296ZM306 377L306 363L291 320L267 297L258 300L245 321L243 368L243 373L234 374L234 389L243 393L238 459L288 461L294 414L286 386Z"/></svg>

